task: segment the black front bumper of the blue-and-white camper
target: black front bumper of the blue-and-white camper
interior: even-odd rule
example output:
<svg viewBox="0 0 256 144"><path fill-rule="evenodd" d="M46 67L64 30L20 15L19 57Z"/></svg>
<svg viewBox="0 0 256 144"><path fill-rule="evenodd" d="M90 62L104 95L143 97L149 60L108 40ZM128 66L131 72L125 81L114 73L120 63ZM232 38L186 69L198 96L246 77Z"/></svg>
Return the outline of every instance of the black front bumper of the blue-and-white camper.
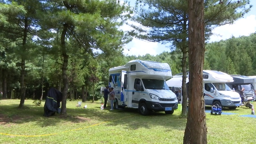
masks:
<svg viewBox="0 0 256 144"><path fill-rule="evenodd" d="M158 102L152 102L152 101L146 101L146 105L148 110L154 110L154 111L165 111L165 108L172 108L172 110L178 109L178 102L176 103L158 103Z"/></svg>

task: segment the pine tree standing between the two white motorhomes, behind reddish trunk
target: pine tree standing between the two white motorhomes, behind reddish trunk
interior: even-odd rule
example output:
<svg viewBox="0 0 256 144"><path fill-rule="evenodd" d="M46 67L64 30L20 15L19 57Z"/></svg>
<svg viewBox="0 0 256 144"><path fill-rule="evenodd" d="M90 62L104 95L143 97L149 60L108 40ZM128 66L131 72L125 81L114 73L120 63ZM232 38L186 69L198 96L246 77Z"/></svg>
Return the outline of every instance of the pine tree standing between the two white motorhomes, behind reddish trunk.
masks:
<svg viewBox="0 0 256 144"><path fill-rule="evenodd" d="M232 0L205 0L204 24L206 39L216 26L230 24L241 18L252 7L247 6L249 0L239 3ZM182 117L187 116L186 73L188 57L188 1L187 0L137 0L135 7L137 15L133 20L143 27L132 25L137 30L140 39L172 44L182 52ZM238 11L240 10L240 11Z"/></svg>

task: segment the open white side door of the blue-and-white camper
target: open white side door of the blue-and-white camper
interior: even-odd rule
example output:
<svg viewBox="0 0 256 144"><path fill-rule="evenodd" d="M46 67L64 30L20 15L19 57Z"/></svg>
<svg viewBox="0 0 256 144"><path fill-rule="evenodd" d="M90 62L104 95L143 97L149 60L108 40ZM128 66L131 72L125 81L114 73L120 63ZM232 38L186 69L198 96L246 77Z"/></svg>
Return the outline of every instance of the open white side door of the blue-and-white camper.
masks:
<svg viewBox="0 0 256 144"><path fill-rule="evenodd" d="M122 70L121 74L121 98L120 101L127 101L127 75L128 72Z"/></svg>

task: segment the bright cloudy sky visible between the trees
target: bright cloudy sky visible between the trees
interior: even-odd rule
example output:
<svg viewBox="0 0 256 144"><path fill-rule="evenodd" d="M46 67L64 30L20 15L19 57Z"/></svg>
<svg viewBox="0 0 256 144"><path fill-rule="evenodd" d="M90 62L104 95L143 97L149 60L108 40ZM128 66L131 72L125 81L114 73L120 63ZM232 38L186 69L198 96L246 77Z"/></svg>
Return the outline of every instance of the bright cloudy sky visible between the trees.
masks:
<svg viewBox="0 0 256 144"><path fill-rule="evenodd" d="M129 1L129 0L128 0ZM121 1L122 2L122 1ZM136 0L130 0L130 4L133 6ZM210 37L209 42L215 42L220 40L226 40L231 36L249 36L251 33L256 32L256 0L251 0L251 11L234 22L232 25L224 25L215 28L212 32L214 35ZM129 29L129 26L124 26L124 29ZM130 43L125 45L125 55L140 55L143 56L147 53L156 56L164 51L170 51L169 48L160 43L147 42L134 38ZM129 50L129 51L128 51Z"/></svg>

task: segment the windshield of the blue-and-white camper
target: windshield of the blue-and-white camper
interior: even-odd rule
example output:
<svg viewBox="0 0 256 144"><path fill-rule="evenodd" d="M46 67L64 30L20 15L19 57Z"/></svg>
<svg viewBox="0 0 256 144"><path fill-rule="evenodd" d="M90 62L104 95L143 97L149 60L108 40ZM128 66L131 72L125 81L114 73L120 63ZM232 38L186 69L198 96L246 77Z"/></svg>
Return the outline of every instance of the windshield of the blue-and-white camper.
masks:
<svg viewBox="0 0 256 144"><path fill-rule="evenodd" d="M164 80L142 79L145 89L170 90Z"/></svg>

